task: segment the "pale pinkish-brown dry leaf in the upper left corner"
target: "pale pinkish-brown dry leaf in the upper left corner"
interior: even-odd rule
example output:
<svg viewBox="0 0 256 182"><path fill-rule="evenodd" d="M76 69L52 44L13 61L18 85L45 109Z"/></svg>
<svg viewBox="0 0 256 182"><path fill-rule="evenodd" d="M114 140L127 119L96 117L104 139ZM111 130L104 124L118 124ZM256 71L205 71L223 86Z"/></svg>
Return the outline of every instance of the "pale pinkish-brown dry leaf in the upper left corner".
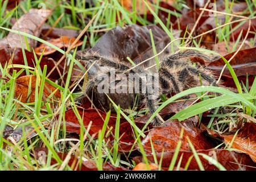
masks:
<svg viewBox="0 0 256 182"><path fill-rule="evenodd" d="M27 14L21 16L11 28L12 30L19 30L26 32L27 34L39 37L41 28L46 22L47 17L51 14L50 10L44 9L30 9ZM20 39L22 43L20 42ZM34 39L27 38L28 45L33 48L36 47L37 41ZM26 48L26 41L24 36L9 32L6 38L0 40L0 48L11 47L11 48Z"/></svg>

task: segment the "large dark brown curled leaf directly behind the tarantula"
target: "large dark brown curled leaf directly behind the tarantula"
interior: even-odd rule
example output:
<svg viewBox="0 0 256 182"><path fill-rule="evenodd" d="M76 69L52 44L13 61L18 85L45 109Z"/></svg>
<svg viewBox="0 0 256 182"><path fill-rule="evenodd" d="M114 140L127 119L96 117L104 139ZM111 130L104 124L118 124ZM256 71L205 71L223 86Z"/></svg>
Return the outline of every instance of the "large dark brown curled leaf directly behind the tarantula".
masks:
<svg viewBox="0 0 256 182"><path fill-rule="evenodd" d="M90 51L98 52L103 56L117 56L125 62L128 62L126 57L129 56L131 60L138 64L154 55L151 46L150 29L154 37L156 51L162 51L170 40L167 34L155 25L141 27L136 24L126 28L113 28L102 36ZM155 64L154 59L147 61L143 65L149 67L152 64Z"/></svg>

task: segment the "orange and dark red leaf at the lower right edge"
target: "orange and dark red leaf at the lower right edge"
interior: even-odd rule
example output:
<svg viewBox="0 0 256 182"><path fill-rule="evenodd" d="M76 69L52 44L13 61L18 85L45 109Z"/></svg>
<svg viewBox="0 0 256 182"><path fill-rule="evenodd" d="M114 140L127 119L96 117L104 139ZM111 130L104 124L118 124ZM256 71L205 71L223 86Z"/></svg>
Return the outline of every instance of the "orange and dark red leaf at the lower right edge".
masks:
<svg viewBox="0 0 256 182"><path fill-rule="evenodd" d="M251 159L256 162L256 124L245 123L245 126L238 131L236 138L234 135L221 135L224 138L226 144L231 144L232 148L236 148L239 151L248 154ZM234 139L234 140L233 140Z"/></svg>

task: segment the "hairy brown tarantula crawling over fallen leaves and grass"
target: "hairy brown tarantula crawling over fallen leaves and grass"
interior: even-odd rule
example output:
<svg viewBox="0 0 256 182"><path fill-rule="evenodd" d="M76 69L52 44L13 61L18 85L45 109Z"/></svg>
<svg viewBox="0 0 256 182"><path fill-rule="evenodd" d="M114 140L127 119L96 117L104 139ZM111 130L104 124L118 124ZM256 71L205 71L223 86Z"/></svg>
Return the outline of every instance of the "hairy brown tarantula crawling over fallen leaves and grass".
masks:
<svg viewBox="0 0 256 182"><path fill-rule="evenodd" d="M100 66L104 67L102 72L91 77L89 76L86 92L90 92L93 88L96 88L99 84L101 84L102 80L97 79L97 77L99 78L103 75L110 76L112 69L114 69L115 75L118 75L119 73L125 73L126 75L131 73L139 80L139 92L141 93L142 97L144 97L143 102L148 108L149 113L152 114L157 109L157 100L160 94L168 94L172 92L179 93L185 89L192 88L193 86L199 86L200 77L203 85L218 86L216 78L213 76L213 74L204 67L193 65L190 61L191 57L199 57L200 59L210 60L209 55L192 49L178 51L164 57L162 63L160 64L160 68L158 69L159 82L154 84L154 86L158 87L159 89L158 94L152 92L149 93L147 90L145 91L148 85L146 84L145 86L142 84L145 81L147 82L148 78L154 82L156 77L145 71L141 65L138 67L132 67L131 65L125 63L125 61L121 61L116 57L100 56L97 53L86 53L85 55L81 56L80 59L89 61L90 63L98 61ZM148 77L145 77L145 75ZM114 84L120 84L121 80L122 79L115 80ZM109 86L109 88L110 87L111 86ZM152 121L152 125L154 126L159 126L162 123L163 119L160 117L160 115L156 115Z"/></svg>

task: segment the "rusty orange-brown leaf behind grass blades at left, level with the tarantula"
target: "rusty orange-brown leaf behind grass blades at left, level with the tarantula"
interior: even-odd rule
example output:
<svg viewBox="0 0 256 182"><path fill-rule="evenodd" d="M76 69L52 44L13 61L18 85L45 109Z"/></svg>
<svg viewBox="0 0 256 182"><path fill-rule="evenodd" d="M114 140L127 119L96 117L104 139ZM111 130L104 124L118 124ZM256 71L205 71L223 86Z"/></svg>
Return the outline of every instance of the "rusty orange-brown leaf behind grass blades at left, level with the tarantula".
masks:
<svg viewBox="0 0 256 182"><path fill-rule="evenodd" d="M30 84L30 79L31 79L31 90L30 90L31 94L28 96L28 87ZM38 86L38 85L36 85L36 76L34 75L22 76L17 78L15 82L15 93L14 93L15 97L24 103L26 103L27 101L34 102L35 86ZM57 88L55 88L51 84L48 84L48 82L44 82L43 96L47 98L56 89ZM54 96L57 98L61 97L59 89L57 89ZM28 98L30 99L28 100Z"/></svg>

